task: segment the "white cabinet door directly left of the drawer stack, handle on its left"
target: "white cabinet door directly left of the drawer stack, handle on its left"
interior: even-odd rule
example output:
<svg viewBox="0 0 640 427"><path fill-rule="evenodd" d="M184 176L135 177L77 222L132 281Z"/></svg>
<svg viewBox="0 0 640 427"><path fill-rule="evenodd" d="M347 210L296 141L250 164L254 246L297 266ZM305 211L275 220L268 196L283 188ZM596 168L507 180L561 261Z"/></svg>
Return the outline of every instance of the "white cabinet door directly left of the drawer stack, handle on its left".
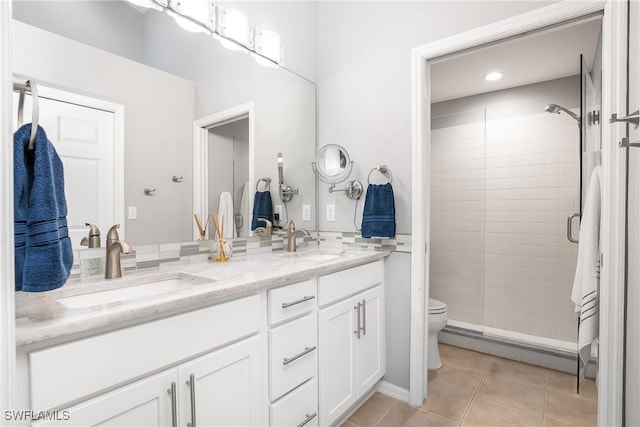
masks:
<svg viewBox="0 0 640 427"><path fill-rule="evenodd" d="M256 336L178 366L181 425L192 409L198 426L265 425L260 350Z"/></svg>

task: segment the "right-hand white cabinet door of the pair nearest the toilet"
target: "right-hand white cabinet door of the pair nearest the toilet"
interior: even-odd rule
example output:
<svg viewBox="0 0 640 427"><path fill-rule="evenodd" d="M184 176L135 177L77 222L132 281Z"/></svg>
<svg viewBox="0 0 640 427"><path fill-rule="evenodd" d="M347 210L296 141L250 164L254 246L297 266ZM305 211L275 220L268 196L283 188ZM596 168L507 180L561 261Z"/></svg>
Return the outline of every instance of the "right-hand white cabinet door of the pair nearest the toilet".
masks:
<svg viewBox="0 0 640 427"><path fill-rule="evenodd" d="M362 332L357 342L358 397L373 387L385 372L384 287L376 286L356 296L360 302Z"/></svg>

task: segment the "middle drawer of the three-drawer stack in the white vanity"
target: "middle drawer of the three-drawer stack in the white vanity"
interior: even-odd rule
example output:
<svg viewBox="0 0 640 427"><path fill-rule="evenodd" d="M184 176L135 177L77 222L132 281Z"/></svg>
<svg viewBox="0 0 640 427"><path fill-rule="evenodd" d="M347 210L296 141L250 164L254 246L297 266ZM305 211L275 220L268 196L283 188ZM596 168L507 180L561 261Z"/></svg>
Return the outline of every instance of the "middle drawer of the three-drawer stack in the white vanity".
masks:
<svg viewBox="0 0 640 427"><path fill-rule="evenodd" d="M318 370L315 313L269 331L269 396L278 399L315 377Z"/></svg>

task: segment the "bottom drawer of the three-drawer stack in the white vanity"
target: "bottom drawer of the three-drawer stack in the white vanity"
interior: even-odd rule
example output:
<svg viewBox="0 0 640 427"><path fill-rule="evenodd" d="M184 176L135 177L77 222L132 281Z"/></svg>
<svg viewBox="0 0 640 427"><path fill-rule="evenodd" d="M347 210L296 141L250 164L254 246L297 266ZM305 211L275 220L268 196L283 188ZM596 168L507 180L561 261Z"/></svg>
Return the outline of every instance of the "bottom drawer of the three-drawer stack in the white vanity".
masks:
<svg viewBox="0 0 640 427"><path fill-rule="evenodd" d="M306 382L276 403L272 403L269 407L269 425L317 426L318 382L316 379Z"/></svg>

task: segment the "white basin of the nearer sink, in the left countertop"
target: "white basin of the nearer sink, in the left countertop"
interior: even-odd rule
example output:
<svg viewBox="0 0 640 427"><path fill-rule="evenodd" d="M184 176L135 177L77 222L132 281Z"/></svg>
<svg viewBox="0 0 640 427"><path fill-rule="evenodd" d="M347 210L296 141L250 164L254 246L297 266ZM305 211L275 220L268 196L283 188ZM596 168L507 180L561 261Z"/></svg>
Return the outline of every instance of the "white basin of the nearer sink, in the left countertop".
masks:
<svg viewBox="0 0 640 427"><path fill-rule="evenodd" d="M58 302L68 308L86 308L115 302L128 302L179 292L214 280L184 273L141 279L133 284L96 292L88 292L59 298Z"/></svg>

